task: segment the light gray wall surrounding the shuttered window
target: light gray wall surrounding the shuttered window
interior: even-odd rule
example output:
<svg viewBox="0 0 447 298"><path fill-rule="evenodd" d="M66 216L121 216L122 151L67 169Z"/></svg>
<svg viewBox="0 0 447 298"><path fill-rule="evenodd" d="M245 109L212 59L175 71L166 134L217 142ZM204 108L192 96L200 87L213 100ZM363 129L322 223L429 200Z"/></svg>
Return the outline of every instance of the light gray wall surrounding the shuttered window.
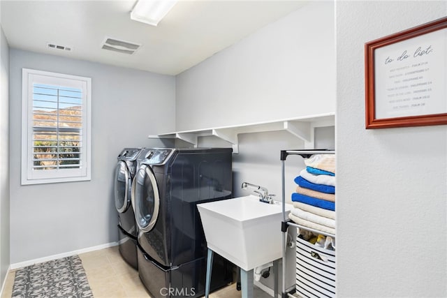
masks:
<svg viewBox="0 0 447 298"><path fill-rule="evenodd" d="M91 181L20 186L22 68L91 77ZM124 147L161 146L147 135L173 131L174 114L175 77L11 49L11 263L117 241L117 155Z"/></svg>

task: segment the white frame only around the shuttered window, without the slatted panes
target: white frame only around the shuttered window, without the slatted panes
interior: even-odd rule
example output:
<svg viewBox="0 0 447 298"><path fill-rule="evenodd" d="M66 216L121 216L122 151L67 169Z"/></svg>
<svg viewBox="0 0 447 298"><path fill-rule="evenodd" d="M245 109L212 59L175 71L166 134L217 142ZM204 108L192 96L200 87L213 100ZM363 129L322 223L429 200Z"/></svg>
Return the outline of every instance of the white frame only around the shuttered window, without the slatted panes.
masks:
<svg viewBox="0 0 447 298"><path fill-rule="evenodd" d="M33 84L82 89L82 146L76 169L33 170ZM22 185L91 180L91 78L22 68Z"/></svg>

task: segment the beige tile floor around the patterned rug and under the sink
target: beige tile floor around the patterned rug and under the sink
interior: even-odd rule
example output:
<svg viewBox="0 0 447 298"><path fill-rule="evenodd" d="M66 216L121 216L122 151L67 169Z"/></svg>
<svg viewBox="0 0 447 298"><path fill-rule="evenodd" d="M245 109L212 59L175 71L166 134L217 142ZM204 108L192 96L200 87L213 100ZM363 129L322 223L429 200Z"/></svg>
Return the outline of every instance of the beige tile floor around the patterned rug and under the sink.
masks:
<svg viewBox="0 0 447 298"><path fill-rule="evenodd" d="M138 277L138 271L127 265L119 255L118 246L82 253L79 255L85 268L94 298L146 298L151 297ZM13 292L15 271L6 277L1 298L10 298ZM210 295L211 298L238 298L241 292L236 285L228 285ZM270 297L267 293L254 289L254 297Z"/></svg>

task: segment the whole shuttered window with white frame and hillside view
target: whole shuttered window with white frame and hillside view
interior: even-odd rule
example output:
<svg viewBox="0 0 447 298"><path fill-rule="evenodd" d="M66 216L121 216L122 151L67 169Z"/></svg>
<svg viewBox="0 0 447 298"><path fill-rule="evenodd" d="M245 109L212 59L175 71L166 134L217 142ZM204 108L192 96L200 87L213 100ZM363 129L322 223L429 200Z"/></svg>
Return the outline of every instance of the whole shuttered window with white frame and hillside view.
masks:
<svg viewBox="0 0 447 298"><path fill-rule="evenodd" d="M89 180L91 79L22 70L22 184Z"/></svg>

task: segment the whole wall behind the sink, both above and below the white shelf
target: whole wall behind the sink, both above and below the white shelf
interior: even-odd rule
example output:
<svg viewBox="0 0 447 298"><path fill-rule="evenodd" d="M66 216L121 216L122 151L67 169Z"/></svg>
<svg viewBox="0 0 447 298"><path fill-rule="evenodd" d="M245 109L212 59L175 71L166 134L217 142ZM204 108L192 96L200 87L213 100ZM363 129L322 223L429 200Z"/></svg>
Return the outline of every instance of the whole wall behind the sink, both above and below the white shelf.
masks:
<svg viewBox="0 0 447 298"><path fill-rule="evenodd" d="M335 112L334 13L332 2L309 3L177 75L177 131ZM333 126L317 128L316 147L334 149L334 135ZM228 143L203 137L199 146ZM234 195L249 194L241 189L247 181L281 200L280 151L304 147L286 131L239 135ZM300 156L288 158L286 193L303 167ZM294 287L294 249L287 260L286 287ZM273 287L272 277L261 281Z"/></svg>

